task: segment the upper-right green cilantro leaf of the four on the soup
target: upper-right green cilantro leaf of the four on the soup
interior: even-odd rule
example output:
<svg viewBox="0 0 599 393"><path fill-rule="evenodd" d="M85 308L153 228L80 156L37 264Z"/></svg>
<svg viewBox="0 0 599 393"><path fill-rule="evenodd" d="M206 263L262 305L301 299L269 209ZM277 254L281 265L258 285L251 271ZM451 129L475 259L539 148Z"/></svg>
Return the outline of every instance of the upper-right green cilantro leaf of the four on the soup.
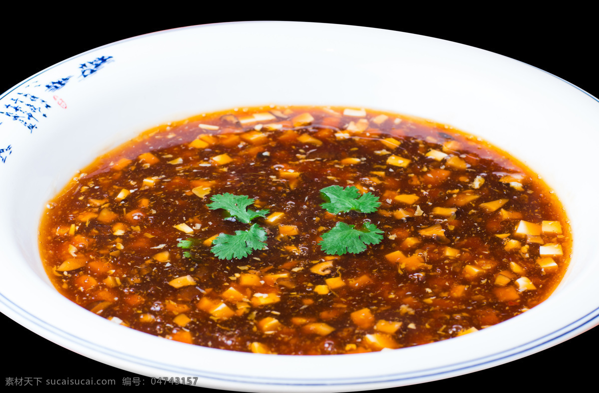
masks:
<svg viewBox="0 0 599 393"><path fill-rule="evenodd" d="M329 213L337 214L341 211L356 210L360 213L373 213L380 206L379 198L367 192L360 195L354 186L346 187L329 186L320 190L320 196L326 201L320 205Z"/></svg>

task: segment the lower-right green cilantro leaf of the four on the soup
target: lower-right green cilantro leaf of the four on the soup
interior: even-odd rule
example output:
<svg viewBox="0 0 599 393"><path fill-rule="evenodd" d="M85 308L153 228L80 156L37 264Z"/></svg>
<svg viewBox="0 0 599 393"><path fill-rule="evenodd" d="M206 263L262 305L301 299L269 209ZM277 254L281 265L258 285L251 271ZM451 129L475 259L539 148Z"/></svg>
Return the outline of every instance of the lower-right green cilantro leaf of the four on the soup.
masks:
<svg viewBox="0 0 599 393"><path fill-rule="evenodd" d="M331 231L322 234L319 244L329 255L358 254L366 250L367 244L379 244L383 240L382 233L383 231L370 222L365 222L362 229L338 222Z"/></svg>

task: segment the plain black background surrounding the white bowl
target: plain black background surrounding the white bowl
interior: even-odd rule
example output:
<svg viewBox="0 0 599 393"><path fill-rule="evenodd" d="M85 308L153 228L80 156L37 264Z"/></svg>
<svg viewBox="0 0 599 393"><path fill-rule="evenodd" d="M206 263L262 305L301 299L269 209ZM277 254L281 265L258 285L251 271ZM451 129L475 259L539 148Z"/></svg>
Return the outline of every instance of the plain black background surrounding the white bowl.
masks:
<svg viewBox="0 0 599 393"><path fill-rule="evenodd" d="M483 12L448 8L432 13L426 8L407 10L399 5L393 8L352 8L345 5L346 10L325 15L319 7L305 4L295 6L293 12L281 12L273 17L276 6L259 4L253 7L262 12L223 8L208 13L203 9L180 8L176 11L162 9L156 16L145 14L145 11L125 13L120 9L90 9L84 12L78 10L75 17L75 14L68 16L65 8L62 11L56 8L40 11L35 16L31 13L14 14L13 20L7 17L5 19L8 20L0 26L3 37L0 92L63 59L120 39L193 24L270 19L355 24L460 42L539 67L595 97L599 96L595 62L597 33L592 29L594 21L588 16L588 10L565 9L559 10L559 13L540 14L516 9L489 8ZM343 14L340 14L342 11ZM193 16L202 14L219 17ZM297 16L310 16L310 19L297 19ZM559 318L559 314L555 318ZM141 377L74 354L1 314L0 328L4 337L1 353L5 360L0 369L2 386L7 377L113 378L117 386L121 386L123 377ZM574 383L571 387L579 383L594 383L597 361L593 354L597 348L599 328L503 366L423 385L386 389L385 392L422 388L528 390L556 388L559 383ZM141 379L145 383L143 388L147 389L150 379ZM176 388L183 389L183 386Z"/></svg>

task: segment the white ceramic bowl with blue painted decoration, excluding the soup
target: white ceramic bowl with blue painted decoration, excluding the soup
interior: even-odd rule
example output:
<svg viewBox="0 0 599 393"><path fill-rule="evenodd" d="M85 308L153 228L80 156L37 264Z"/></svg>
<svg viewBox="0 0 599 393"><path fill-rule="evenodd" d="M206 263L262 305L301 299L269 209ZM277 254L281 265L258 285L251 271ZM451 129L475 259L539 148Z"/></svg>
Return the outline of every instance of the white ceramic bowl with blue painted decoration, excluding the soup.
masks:
<svg viewBox="0 0 599 393"><path fill-rule="evenodd" d="M247 42L268 42L267 59L261 45ZM223 54L222 48L228 50ZM295 61L277 62L273 56ZM232 79L234 85L223 94L223 85ZM24 112L10 108L19 100ZM268 102L422 116L479 134L512 152L539 171L564 201L575 242L567 278L547 302L477 334L400 351L309 358L168 342L108 323L53 290L37 256L37 220L44 202L78 168L157 123ZM203 386L228 389L363 390L484 369L597 324L599 297L592 285L599 276L592 247L597 213L582 204L587 195L597 195L597 188L573 171L573 163L594 164L599 107L593 97L533 67L459 44L384 30L223 24L156 33L81 54L17 85L0 103L0 115L8 119L0 124L0 180L14 190L0 196L0 310L104 363L152 376L199 376ZM570 138L562 137L564 130ZM553 143L552 136L561 137L560 143ZM580 140L587 143L580 146ZM563 159L547 159L554 156ZM25 178L29 181L23 182Z"/></svg>

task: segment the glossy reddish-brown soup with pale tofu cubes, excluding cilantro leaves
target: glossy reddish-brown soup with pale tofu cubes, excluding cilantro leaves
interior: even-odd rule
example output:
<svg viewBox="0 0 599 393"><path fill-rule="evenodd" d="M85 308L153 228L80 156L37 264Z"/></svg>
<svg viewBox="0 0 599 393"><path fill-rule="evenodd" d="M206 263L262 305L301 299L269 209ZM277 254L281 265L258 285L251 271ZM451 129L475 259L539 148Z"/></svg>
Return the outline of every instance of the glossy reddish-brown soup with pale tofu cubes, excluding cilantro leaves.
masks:
<svg viewBox="0 0 599 393"><path fill-rule="evenodd" d="M213 348L346 354L455 337L546 299L571 249L561 205L520 162L391 113L202 115L150 130L83 172L41 223L58 290L125 326ZM332 185L381 205L328 213L320 190ZM270 210L253 220L268 249L211 253L216 235L249 227L207 207L224 193ZM338 221L373 223L384 238L328 255L320 236ZM177 247L190 237L202 242L193 258Z"/></svg>

